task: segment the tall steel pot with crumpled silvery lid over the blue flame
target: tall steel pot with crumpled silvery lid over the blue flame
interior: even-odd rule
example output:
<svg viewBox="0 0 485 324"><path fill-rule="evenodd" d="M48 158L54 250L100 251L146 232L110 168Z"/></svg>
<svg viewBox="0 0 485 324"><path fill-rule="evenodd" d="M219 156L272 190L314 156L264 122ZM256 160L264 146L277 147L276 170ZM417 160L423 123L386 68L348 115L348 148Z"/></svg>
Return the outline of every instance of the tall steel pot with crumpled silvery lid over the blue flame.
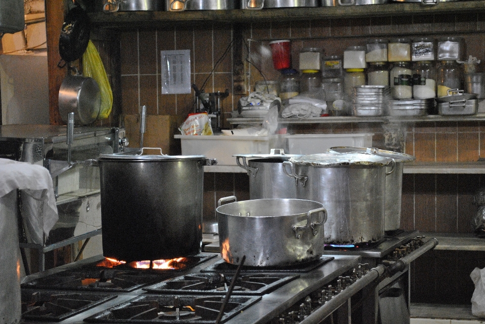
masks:
<svg viewBox="0 0 485 324"><path fill-rule="evenodd" d="M292 157L283 170L297 180L297 198L327 209L325 243L356 244L384 237L385 167L392 161L364 153L322 153Z"/></svg>

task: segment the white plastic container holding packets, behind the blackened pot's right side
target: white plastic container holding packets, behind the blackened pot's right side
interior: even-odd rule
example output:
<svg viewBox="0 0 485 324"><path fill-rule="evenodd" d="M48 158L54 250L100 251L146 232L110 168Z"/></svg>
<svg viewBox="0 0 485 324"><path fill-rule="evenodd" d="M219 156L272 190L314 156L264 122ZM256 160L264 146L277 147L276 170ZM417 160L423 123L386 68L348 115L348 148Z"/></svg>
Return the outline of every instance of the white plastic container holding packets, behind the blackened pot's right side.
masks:
<svg viewBox="0 0 485 324"><path fill-rule="evenodd" d="M174 135L180 138L182 155L205 155L217 159L217 166L236 166L234 154L269 154L282 148L284 135Z"/></svg>

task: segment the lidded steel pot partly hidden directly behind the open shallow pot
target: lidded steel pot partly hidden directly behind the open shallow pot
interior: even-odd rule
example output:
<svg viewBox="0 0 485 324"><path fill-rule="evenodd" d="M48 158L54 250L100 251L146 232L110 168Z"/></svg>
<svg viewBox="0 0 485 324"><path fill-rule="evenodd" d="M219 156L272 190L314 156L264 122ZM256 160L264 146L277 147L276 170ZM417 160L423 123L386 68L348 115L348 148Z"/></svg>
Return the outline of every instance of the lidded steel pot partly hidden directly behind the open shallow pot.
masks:
<svg viewBox="0 0 485 324"><path fill-rule="evenodd" d="M295 199L297 197L295 181L284 175L281 166L290 157L298 155L284 154L282 149L271 149L270 154L235 154L234 156L237 165L248 171L250 199Z"/></svg>

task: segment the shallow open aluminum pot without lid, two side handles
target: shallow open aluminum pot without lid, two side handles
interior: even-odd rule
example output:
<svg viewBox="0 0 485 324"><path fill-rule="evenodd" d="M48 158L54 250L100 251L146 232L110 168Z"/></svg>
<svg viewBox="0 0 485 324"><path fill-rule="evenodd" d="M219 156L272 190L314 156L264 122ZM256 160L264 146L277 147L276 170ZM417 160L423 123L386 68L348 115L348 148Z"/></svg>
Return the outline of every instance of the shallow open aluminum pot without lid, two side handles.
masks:
<svg viewBox="0 0 485 324"><path fill-rule="evenodd" d="M221 205L222 202L234 202ZM319 259L327 213L316 201L300 199L219 200L216 209L222 258L245 265L286 266Z"/></svg>

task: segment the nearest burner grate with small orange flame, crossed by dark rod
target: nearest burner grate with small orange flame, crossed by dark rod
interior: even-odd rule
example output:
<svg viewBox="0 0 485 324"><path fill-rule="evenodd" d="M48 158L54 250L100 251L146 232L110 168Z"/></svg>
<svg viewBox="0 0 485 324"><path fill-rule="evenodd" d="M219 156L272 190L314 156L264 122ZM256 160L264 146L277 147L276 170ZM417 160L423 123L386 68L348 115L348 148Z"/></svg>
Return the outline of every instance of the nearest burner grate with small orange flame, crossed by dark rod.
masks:
<svg viewBox="0 0 485 324"><path fill-rule="evenodd" d="M220 322L225 322L261 297L231 296ZM84 319L95 323L215 323L224 296L140 295Z"/></svg>

